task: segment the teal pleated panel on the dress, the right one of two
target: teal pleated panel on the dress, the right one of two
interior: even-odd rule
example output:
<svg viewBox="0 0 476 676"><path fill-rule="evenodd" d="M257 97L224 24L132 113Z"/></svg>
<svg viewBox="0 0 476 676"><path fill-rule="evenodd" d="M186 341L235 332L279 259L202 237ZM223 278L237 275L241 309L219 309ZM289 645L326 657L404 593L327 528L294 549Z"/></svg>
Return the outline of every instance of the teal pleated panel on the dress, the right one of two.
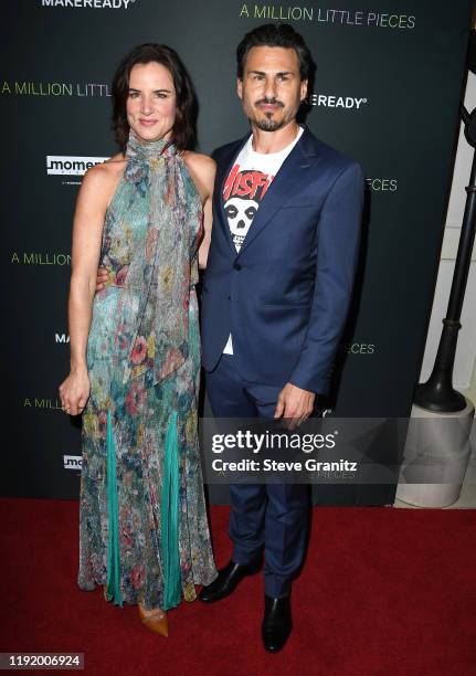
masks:
<svg viewBox="0 0 476 676"><path fill-rule="evenodd" d="M166 434L163 485L161 497L161 534L163 562L163 608L180 603L181 574L179 557L179 440L177 413L172 413Z"/></svg>

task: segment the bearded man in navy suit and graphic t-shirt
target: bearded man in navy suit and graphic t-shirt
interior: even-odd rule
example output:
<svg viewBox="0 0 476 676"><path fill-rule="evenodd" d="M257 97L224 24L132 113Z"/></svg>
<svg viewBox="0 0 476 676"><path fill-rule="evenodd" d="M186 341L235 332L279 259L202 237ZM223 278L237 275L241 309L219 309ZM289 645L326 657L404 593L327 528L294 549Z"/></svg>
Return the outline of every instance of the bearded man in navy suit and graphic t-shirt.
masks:
<svg viewBox="0 0 476 676"><path fill-rule="evenodd" d="M214 152L213 228L202 284L207 392L218 418L300 424L326 394L359 249L362 172L296 122L313 62L302 35L267 24L237 47L237 94L252 134ZM308 487L231 485L233 554L200 599L232 593L261 566L264 646L292 630L289 592L305 552Z"/></svg>

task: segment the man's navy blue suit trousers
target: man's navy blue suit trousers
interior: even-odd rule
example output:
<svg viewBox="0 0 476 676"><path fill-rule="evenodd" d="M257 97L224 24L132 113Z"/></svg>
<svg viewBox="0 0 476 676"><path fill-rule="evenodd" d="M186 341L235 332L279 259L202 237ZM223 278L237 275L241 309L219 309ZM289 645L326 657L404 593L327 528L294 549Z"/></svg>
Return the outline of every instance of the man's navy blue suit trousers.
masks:
<svg viewBox="0 0 476 676"><path fill-rule="evenodd" d="M215 418L273 419L282 388L251 383L231 355L205 374ZM303 484L231 484L230 537L235 563L250 563L264 548L265 593L286 596L306 548L309 487Z"/></svg>

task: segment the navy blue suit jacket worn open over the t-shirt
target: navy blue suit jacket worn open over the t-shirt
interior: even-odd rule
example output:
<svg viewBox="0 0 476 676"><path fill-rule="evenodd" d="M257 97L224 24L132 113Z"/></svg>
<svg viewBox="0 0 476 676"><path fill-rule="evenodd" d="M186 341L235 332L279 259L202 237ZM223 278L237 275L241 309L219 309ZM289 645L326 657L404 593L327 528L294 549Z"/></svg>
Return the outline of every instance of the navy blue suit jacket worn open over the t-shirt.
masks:
<svg viewBox="0 0 476 676"><path fill-rule="evenodd" d="M215 150L213 229L202 283L202 361L232 334L248 381L326 394L346 321L360 240L360 166L307 127L263 198L240 253L223 183L248 135Z"/></svg>

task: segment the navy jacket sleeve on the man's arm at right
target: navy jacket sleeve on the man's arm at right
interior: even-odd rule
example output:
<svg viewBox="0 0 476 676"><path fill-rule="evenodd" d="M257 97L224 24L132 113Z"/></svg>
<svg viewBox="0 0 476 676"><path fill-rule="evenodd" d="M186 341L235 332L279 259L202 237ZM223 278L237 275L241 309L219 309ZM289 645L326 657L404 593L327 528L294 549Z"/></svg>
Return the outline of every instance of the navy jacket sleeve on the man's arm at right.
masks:
<svg viewBox="0 0 476 676"><path fill-rule="evenodd" d="M329 391L330 368L345 327L360 244L363 176L351 163L335 180L317 224L314 298L306 338L289 382Z"/></svg>

